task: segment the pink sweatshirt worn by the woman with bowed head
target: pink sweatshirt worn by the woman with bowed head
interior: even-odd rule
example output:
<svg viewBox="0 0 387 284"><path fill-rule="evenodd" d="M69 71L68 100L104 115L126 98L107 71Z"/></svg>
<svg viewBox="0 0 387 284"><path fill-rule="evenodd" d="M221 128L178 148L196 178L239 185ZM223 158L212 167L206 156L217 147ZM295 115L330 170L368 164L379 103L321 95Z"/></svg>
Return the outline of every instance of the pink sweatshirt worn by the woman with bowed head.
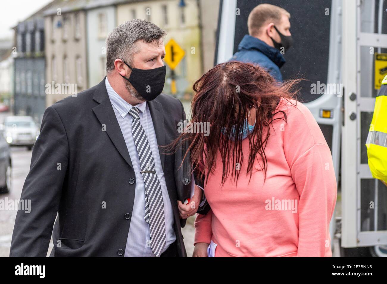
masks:
<svg viewBox="0 0 387 284"><path fill-rule="evenodd" d="M212 240L215 257L332 256L329 222L337 197L332 155L305 105L282 99L280 109L288 122L272 123L265 182L264 172L253 170L248 183L248 139L242 143L238 185L228 177L220 187L220 155L215 172L206 173L204 193L211 210L197 214L195 243Z"/></svg>

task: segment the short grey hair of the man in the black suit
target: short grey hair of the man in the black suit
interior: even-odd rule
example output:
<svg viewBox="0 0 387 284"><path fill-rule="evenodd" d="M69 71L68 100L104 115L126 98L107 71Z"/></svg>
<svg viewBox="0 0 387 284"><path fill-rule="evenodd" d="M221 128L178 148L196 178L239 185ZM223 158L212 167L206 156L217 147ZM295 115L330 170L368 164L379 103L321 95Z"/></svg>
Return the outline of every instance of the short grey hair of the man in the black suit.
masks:
<svg viewBox="0 0 387 284"><path fill-rule="evenodd" d="M114 70L117 58L132 65L133 55L139 52L137 41L152 43L165 35L163 29L146 20L134 19L120 24L106 38L106 71Z"/></svg>

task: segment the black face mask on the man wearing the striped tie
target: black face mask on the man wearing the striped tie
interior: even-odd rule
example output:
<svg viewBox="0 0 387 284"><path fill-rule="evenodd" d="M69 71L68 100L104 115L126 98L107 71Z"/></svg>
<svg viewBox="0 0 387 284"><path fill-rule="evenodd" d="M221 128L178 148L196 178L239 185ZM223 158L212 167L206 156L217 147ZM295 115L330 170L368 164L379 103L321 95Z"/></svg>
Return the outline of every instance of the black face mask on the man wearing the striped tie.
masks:
<svg viewBox="0 0 387 284"><path fill-rule="evenodd" d="M130 67L123 60L122 62L132 70L132 73L130 73L129 78L120 75L128 80L145 100L154 100L163 92L166 73L165 65L154 69L137 69Z"/></svg>

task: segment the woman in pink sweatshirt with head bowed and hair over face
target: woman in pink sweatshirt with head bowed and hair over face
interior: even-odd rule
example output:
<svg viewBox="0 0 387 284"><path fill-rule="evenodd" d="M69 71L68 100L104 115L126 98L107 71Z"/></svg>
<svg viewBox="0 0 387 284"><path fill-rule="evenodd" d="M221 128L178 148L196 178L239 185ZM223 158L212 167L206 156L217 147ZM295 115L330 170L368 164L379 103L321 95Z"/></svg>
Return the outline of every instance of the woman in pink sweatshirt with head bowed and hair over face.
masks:
<svg viewBox="0 0 387 284"><path fill-rule="evenodd" d="M332 155L296 83L236 61L195 83L191 122L209 135L182 136L211 209L197 214L194 257L332 256Z"/></svg>

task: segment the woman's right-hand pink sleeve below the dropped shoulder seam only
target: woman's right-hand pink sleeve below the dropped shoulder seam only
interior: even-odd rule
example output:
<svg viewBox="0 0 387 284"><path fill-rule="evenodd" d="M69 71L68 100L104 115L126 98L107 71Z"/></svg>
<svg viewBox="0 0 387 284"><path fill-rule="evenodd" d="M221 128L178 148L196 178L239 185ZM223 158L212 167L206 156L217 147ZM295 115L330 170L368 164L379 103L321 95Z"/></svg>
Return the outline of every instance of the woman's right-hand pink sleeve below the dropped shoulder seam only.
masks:
<svg viewBox="0 0 387 284"><path fill-rule="evenodd" d="M298 204L298 257L330 257L329 223L337 197L332 156L326 144L315 144L291 167Z"/></svg>

